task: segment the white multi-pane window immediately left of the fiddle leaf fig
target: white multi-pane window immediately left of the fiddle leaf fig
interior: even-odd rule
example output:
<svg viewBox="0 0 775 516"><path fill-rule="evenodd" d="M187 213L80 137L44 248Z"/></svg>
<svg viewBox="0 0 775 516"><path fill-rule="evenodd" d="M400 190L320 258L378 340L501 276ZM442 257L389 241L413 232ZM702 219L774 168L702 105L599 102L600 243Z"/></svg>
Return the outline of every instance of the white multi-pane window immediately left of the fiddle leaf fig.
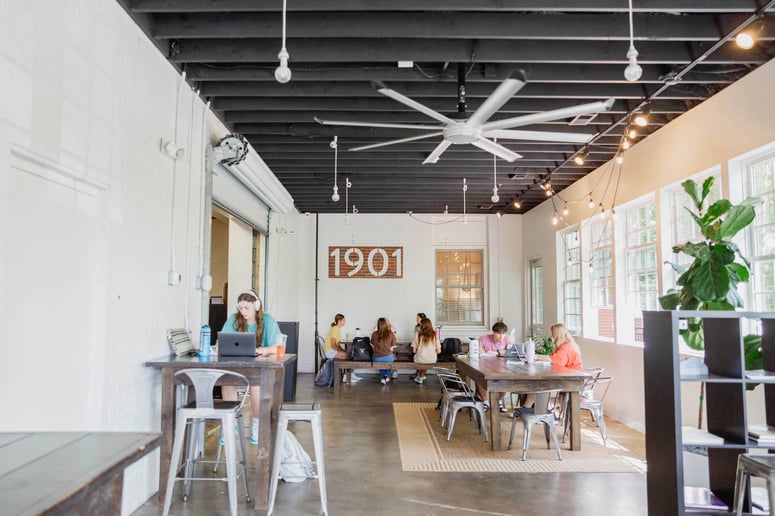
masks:
<svg viewBox="0 0 775 516"><path fill-rule="evenodd" d="M653 196L623 207L624 297L617 326L630 328L617 333L624 343L643 342L643 310L659 307L657 263L657 210Z"/></svg>

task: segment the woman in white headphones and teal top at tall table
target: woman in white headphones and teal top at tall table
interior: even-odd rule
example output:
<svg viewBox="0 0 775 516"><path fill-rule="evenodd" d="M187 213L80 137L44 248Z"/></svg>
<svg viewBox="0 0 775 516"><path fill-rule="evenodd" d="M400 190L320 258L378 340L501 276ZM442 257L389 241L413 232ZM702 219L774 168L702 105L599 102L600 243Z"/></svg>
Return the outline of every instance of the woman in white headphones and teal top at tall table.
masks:
<svg viewBox="0 0 775 516"><path fill-rule="evenodd" d="M274 343L280 334L280 326L269 314L264 313L261 300L252 290L241 292L237 297L237 312L229 316L223 324L224 332L249 332L256 334L256 355L266 356L275 353ZM221 387L224 401L237 401L237 389L234 386ZM258 444L258 401L261 399L261 388L250 387L250 409L253 414L253 424L250 429L250 442Z"/></svg>

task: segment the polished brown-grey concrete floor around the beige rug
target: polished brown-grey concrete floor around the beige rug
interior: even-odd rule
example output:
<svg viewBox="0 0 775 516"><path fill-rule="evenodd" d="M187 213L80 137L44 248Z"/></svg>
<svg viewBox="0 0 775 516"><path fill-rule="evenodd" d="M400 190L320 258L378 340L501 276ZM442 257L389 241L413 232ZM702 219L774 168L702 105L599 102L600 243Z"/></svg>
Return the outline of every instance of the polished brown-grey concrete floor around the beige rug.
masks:
<svg viewBox="0 0 775 516"><path fill-rule="evenodd" d="M323 409L328 513L335 515L642 515L646 477L639 473L425 473L404 472L393 417L394 402L436 402L439 384L416 385L401 375L383 386L376 375L341 389L298 378L296 400ZM309 424L291 425L313 457ZM209 439L214 446L215 437ZM254 448L250 447L248 454ZM251 479L252 480L252 479ZM321 514L315 480L279 483L275 514ZM225 484L199 482L183 503L175 489L171 514L228 514ZM240 488L239 493L242 493ZM154 495L134 514L157 515ZM239 514L254 514L244 500Z"/></svg>

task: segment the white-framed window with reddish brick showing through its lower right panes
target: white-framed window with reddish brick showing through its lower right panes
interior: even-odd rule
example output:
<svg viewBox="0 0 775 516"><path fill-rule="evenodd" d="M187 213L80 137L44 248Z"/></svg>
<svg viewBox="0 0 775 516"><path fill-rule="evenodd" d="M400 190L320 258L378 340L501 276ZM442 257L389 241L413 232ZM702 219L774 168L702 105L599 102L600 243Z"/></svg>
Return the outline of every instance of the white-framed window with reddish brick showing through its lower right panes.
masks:
<svg viewBox="0 0 775 516"><path fill-rule="evenodd" d="M614 309L613 231L609 217L594 217L584 231L589 285L584 312L585 334L592 338L613 340L616 336Z"/></svg>

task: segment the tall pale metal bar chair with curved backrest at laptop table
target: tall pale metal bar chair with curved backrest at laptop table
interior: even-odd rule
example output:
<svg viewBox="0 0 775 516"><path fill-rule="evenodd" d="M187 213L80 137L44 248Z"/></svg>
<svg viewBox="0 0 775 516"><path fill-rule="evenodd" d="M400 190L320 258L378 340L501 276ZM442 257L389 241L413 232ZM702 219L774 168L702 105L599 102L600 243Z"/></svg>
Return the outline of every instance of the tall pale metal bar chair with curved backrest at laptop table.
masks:
<svg viewBox="0 0 775 516"><path fill-rule="evenodd" d="M172 444L172 456L170 458L170 472L167 477L167 496L164 497L164 516L169 514L172 503L172 491L176 480L183 480L183 501L188 500L192 480L217 480L228 484L229 512L237 514L237 464L242 465L242 478L245 484L245 500L250 503L250 491L248 490L248 469L245 454L245 439L242 435L242 406L245 403L245 395L239 401L216 401L213 399L213 387L222 377L231 377L242 382L243 392L248 391L250 381L245 375L225 371L223 369L192 368L181 369L175 373L175 377L181 381L190 381L194 387L196 399L185 406L179 407L175 420L175 438ZM197 461L197 450L200 447L200 437L205 420L220 421L221 428L235 428L236 431L224 432L224 444L226 448L226 476L225 477L193 477L194 462ZM236 436L239 434L239 438ZM239 441L241 457L237 460L236 442ZM180 458L183 452L183 443L187 442L186 460L183 476L179 477ZM208 461L199 461L208 462Z"/></svg>

